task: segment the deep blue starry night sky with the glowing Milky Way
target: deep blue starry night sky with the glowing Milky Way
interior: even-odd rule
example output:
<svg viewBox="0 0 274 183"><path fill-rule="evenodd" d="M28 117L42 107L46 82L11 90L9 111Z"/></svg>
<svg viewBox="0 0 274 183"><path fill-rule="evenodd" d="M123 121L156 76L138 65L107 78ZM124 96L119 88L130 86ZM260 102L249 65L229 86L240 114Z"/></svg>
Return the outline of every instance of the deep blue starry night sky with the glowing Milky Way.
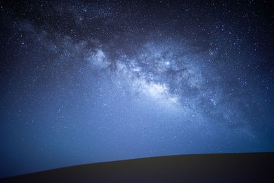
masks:
<svg viewBox="0 0 274 183"><path fill-rule="evenodd" d="M274 151L273 1L0 6L0 177Z"/></svg>

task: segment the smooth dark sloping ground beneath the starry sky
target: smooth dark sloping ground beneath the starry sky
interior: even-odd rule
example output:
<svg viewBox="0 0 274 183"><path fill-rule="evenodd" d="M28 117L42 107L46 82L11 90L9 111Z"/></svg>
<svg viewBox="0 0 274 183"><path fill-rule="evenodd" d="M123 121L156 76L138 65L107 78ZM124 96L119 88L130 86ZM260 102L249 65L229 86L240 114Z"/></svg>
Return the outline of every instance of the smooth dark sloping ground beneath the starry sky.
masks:
<svg viewBox="0 0 274 183"><path fill-rule="evenodd" d="M0 182L274 182L274 153L101 162L18 175Z"/></svg>

